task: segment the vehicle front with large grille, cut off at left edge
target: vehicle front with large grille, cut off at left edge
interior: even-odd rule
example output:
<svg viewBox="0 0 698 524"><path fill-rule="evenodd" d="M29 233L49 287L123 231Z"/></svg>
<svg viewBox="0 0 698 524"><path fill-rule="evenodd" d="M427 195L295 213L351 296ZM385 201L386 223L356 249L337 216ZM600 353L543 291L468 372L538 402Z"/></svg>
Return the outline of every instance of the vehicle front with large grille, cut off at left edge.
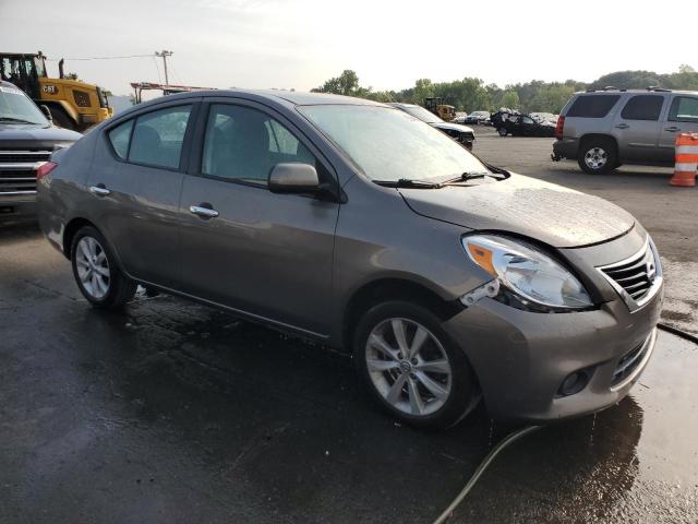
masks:
<svg viewBox="0 0 698 524"><path fill-rule="evenodd" d="M37 170L56 147L82 138L52 126L47 115L14 84L0 81L0 217L34 216Z"/></svg>

